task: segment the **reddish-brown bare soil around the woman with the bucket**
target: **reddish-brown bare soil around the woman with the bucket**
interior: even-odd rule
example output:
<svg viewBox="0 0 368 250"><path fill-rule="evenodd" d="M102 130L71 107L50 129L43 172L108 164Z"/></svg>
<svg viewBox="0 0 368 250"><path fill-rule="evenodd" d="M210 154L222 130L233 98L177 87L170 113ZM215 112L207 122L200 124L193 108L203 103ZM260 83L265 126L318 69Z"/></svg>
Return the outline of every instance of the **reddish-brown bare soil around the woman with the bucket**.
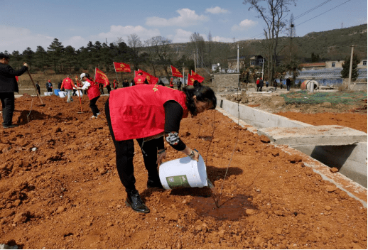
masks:
<svg viewBox="0 0 368 250"><path fill-rule="evenodd" d="M97 102L100 110L106 99ZM132 212L124 205L104 112L90 119L87 97L84 114L77 114L77 99L43 100L45 107L36 106L36 97L16 99L13 121L21 126L0 129L0 243L22 249L367 249L367 208L305 166L302 156L217 111L183 119L180 136L205 158L208 177L222 193L220 208L207 188L147 190L136 144L136 187L151 212ZM332 121L340 119L333 115ZM167 161L180 157L168 146Z"/></svg>

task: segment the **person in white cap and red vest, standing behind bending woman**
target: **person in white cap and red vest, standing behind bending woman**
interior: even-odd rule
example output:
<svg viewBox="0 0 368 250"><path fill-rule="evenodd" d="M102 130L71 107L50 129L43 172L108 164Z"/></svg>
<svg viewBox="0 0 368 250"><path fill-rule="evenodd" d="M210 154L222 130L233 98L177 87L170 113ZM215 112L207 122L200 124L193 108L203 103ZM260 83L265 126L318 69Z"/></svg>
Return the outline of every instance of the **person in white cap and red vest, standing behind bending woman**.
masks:
<svg viewBox="0 0 368 250"><path fill-rule="evenodd" d="M90 108L92 109L92 119L96 119L99 116L99 110L96 105L97 100L101 93L99 92L99 85L92 80L90 75L86 73L80 74L80 80L82 81L82 87L77 87L80 90L87 90L88 99L90 99Z"/></svg>

